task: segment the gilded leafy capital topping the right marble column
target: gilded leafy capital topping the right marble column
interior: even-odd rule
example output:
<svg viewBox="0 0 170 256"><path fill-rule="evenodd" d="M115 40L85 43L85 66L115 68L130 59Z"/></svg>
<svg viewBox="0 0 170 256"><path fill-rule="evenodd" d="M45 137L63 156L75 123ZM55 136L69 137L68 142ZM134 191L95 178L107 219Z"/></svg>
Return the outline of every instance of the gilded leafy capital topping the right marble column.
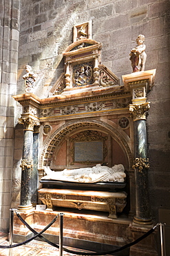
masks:
<svg viewBox="0 0 170 256"><path fill-rule="evenodd" d="M129 104L129 111L131 112L131 116L134 118L134 121L140 119L146 120L147 111L149 108L149 102L142 104Z"/></svg>

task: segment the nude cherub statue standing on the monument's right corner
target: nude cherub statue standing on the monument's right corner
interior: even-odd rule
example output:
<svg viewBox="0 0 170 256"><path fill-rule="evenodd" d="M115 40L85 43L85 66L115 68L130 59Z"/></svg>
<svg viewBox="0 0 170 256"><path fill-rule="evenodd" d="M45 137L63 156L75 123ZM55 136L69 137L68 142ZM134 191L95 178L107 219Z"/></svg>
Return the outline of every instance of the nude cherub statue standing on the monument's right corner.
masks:
<svg viewBox="0 0 170 256"><path fill-rule="evenodd" d="M131 49L130 60L133 72L144 71L147 54L145 53L146 46L144 44L145 36L138 35L136 48Z"/></svg>

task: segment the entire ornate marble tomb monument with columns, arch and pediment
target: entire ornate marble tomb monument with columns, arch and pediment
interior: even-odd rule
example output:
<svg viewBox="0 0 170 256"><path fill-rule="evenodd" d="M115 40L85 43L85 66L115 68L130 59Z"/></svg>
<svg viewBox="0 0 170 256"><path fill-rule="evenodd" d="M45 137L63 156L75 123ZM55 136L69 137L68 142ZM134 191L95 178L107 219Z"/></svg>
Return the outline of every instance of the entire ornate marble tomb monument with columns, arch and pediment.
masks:
<svg viewBox="0 0 170 256"><path fill-rule="evenodd" d="M120 84L101 63L101 49L92 39L91 21L74 26L73 43L63 53L64 72L56 77L49 96L40 99L33 92L13 96L23 107L19 122L24 129L18 210L40 231L62 207L64 243L81 248L94 242L123 246L152 224L146 116L156 70L144 71L142 56L140 70L123 75ZM45 203L46 210L33 207L38 203L32 197L38 179L39 203ZM56 241L58 223L45 235ZM29 236L15 218L14 240ZM152 235L133 246L130 255L157 255L153 240Z"/></svg>

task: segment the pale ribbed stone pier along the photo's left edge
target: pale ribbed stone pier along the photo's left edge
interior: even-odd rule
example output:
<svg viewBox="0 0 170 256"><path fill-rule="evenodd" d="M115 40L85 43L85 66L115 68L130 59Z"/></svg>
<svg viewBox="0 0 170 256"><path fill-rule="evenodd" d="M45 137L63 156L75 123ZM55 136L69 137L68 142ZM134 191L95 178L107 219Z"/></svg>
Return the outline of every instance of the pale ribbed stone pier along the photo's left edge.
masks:
<svg viewBox="0 0 170 256"><path fill-rule="evenodd" d="M0 227L8 230L17 92L19 1L0 2Z"/></svg>

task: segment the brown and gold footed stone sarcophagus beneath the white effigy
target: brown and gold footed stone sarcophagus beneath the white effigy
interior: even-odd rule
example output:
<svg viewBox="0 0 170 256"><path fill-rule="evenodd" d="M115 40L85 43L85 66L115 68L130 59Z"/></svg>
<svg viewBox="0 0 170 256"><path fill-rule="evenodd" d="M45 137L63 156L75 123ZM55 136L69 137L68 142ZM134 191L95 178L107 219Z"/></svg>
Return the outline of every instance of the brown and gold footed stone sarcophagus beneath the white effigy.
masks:
<svg viewBox="0 0 170 256"><path fill-rule="evenodd" d="M56 207L76 208L109 212L108 218L116 219L117 212L122 212L126 205L126 192L104 192L92 190L67 190L41 188L39 199L47 205L47 211Z"/></svg>

